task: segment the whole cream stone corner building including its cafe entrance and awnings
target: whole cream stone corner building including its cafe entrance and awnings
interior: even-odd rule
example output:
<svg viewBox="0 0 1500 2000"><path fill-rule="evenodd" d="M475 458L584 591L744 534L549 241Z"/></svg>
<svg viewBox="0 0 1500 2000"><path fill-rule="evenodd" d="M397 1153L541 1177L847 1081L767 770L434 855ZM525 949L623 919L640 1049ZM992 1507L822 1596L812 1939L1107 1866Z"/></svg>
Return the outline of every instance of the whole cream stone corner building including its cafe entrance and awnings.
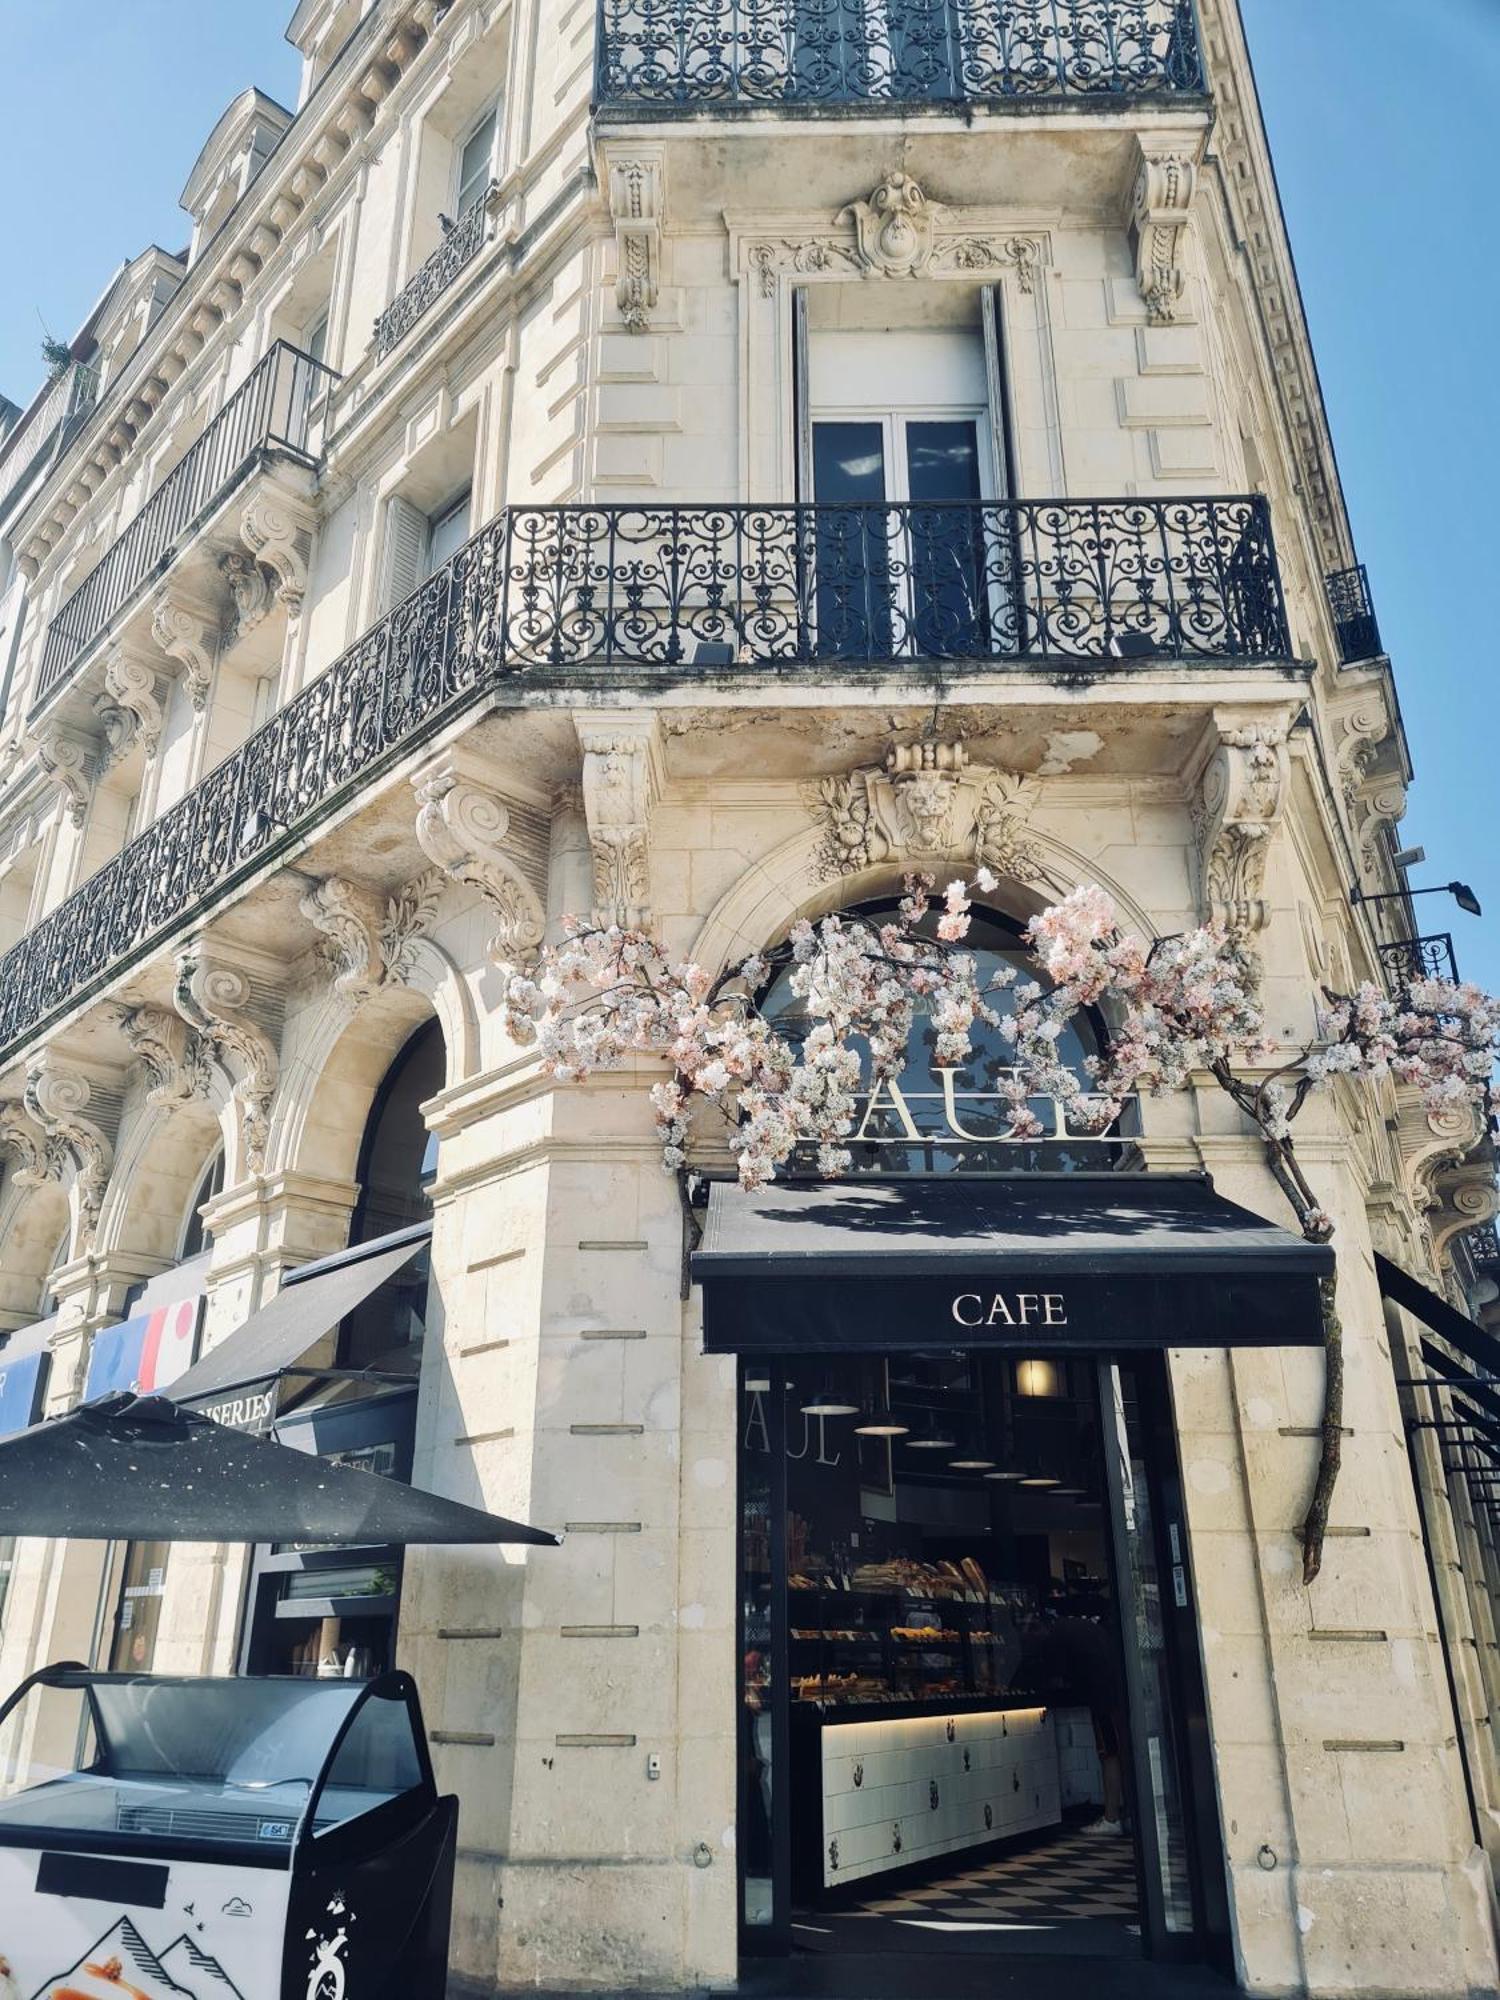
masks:
<svg viewBox="0 0 1500 2000"><path fill-rule="evenodd" d="M1234 0L290 38L0 436L0 1408L196 1352L222 1420L562 1546L22 1540L0 1680L408 1666L474 1994L930 1976L966 1922L1494 1990L1476 1124L1298 1128L1304 1590L1308 1280L1208 1082L1008 1148L998 1050L918 1036L848 1186L744 1204L662 1172L646 1066L496 1014L566 912L720 968L976 862L996 962L1080 882L1242 926L1290 1048L1444 962Z"/></svg>

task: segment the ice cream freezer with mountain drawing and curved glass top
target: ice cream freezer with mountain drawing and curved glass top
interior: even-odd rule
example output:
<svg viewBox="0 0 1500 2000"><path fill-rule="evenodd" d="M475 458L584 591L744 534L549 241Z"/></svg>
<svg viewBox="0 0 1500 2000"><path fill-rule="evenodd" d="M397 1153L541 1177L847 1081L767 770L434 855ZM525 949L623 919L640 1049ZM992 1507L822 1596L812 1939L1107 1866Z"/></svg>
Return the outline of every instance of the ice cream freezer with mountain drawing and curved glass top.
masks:
<svg viewBox="0 0 1500 2000"><path fill-rule="evenodd" d="M442 2000L416 1686L46 1668L0 1710L0 2000Z"/></svg>

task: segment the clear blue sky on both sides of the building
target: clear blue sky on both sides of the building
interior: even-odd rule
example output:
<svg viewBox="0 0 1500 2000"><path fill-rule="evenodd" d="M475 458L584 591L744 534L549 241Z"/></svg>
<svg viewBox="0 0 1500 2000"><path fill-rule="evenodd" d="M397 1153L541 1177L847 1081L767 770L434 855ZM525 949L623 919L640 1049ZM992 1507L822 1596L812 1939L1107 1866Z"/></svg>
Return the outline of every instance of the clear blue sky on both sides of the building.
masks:
<svg viewBox="0 0 1500 2000"><path fill-rule="evenodd" d="M290 102L290 0L0 0L6 284L0 390L40 380L124 256L176 248L176 206L218 112L256 82ZM1244 0L1344 490L1396 662L1416 790L1404 826L1462 876L1440 896L1468 976L1500 988L1500 260L1496 0ZM1486 578L1490 582L1486 584Z"/></svg>

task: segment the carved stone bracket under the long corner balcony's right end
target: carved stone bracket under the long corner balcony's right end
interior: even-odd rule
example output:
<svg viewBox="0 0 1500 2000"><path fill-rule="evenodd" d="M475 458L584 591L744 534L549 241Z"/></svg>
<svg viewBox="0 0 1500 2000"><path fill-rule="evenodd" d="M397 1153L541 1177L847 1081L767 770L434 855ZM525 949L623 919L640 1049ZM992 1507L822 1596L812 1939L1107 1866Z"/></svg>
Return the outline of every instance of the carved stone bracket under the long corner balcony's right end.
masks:
<svg viewBox="0 0 1500 2000"><path fill-rule="evenodd" d="M1264 930L1270 842L1286 812L1286 722L1214 724L1216 744L1194 808L1200 908L1206 920L1248 936Z"/></svg>

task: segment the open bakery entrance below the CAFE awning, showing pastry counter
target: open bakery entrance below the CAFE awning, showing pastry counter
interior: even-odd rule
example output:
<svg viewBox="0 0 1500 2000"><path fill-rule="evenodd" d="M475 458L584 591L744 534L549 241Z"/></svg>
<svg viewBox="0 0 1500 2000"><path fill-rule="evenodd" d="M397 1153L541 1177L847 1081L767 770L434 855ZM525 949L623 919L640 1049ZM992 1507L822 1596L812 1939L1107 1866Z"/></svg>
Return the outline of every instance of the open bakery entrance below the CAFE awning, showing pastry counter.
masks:
<svg viewBox="0 0 1500 2000"><path fill-rule="evenodd" d="M744 1356L746 1950L1218 1958L1160 1354Z"/></svg>

